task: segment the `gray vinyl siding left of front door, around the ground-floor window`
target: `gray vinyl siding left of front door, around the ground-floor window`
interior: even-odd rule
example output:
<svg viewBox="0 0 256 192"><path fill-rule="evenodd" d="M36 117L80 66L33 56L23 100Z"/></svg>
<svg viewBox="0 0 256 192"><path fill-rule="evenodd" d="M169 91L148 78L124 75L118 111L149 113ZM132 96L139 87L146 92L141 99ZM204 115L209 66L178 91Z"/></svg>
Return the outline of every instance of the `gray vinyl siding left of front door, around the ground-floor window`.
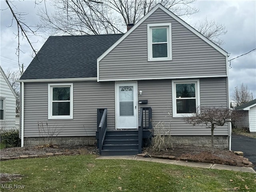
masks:
<svg viewBox="0 0 256 192"><path fill-rule="evenodd" d="M61 130L58 136L95 136L97 108L108 108L108 128L115 128L114 82L73 82L71 120L48 120L48 83L24 83L24 137L38 136L38 122Z"/></svg>

